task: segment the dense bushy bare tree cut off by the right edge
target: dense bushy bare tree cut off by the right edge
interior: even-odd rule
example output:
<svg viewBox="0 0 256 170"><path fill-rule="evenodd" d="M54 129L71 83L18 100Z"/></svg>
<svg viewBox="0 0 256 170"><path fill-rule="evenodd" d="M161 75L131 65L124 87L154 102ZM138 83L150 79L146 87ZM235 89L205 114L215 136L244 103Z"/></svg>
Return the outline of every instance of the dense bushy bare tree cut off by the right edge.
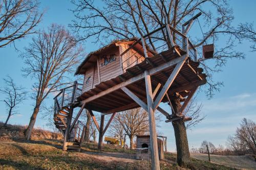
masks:
<svg viewBox="0 0 256 170"><path fill-rule="evenodd" d="M243 118L240 128L228 137L229 147L237 154L256 154L256 124Z"/></svg>

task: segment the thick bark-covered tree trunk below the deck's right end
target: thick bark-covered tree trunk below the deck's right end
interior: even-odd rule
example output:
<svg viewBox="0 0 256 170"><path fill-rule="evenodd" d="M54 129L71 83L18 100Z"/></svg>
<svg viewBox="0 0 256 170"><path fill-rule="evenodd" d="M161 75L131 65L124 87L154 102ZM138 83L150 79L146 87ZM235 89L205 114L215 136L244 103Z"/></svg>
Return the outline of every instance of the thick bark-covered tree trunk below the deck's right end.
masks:
<svg viewBox="0 0 256 170"><path fill-rule="evenodd" d="M181 107L180 99L174 99L172 105L176 113ZM187 167L190 164L190 154L187 141L186 127L183 119L173 122L176 149L177 149L177 162L179 166Z"/></svg>

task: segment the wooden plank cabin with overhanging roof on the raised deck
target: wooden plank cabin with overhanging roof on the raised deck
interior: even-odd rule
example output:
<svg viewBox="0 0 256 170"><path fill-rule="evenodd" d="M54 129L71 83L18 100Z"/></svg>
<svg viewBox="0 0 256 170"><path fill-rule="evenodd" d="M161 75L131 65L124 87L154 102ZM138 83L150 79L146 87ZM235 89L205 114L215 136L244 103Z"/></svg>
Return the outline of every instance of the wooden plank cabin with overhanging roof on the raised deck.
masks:
<svg viewBox="0 0 256 170"><path fill-rule="evenodd" d="M101 82L122 75L127 68L144 61L141 43L137 43L129 52L121 56L135 41L136 39L116 40L90 53L76 71L76 75L84 75L82 93L93 89ZM152 53L148 55L153 56Z"/></svg>

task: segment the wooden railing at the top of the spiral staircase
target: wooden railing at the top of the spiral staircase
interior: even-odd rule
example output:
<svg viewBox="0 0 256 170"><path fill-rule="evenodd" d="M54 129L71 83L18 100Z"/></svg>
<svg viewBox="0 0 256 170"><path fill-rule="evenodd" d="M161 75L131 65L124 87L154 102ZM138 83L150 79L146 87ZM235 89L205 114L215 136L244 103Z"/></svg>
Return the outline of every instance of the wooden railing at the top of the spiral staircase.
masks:
<svg viewBox="0 0 256 170"><path fill-rule="evenodd" d="M54 114L56 114L63 107L76 103L76 99L82 93L82 84L74 82L73 85L60 89L60 92L54 99Z"/></svg>

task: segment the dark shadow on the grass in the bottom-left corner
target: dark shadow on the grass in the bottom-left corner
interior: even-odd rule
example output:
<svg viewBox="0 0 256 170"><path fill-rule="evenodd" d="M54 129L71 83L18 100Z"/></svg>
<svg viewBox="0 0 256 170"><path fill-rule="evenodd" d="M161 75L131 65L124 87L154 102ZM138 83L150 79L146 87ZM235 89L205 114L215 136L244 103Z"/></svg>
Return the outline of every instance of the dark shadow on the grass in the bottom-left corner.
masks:
<svg viewBox="0 0 256 170"><path fill-rule="evenodd" d="M14 167L16 169L42 169L44 170L44 168L40 168L40 167L36 167L36 166L32 166L30 164L28 164L27 162L17 162L17 161L13 161L13 160L6 160L6 159L0 159L0 165L3 165L3 167L5 168L10 168Z"/></svg>

